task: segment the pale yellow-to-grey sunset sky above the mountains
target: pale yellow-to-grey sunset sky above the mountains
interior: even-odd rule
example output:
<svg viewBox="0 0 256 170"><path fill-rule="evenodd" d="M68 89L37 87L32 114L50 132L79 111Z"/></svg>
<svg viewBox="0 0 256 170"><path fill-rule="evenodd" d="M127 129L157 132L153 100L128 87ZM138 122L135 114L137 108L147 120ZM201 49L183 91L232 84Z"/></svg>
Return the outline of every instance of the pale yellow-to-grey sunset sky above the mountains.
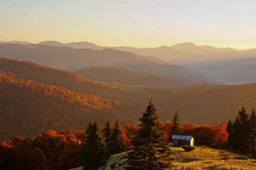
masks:
<svg viewBox="0 0 256 170"><path fill-rule="evenodd" d="M0 41L256 48L256 0L0 0Z"/></svg>

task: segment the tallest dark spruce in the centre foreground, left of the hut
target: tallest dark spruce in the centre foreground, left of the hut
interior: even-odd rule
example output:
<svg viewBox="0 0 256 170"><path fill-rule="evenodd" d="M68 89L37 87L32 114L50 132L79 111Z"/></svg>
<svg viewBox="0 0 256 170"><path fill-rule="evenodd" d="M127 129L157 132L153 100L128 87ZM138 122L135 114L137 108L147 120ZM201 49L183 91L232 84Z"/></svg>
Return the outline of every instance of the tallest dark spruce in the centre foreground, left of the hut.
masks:
<svg viewBox="0 0 256 170"><path fill-rule="evenodd" d="M170 148L164 138L164 130L158 121L157 109L149 100L148 107L140 117L137 136L133 137L132 151L127 155L126 170L169 170Z"/></svg>

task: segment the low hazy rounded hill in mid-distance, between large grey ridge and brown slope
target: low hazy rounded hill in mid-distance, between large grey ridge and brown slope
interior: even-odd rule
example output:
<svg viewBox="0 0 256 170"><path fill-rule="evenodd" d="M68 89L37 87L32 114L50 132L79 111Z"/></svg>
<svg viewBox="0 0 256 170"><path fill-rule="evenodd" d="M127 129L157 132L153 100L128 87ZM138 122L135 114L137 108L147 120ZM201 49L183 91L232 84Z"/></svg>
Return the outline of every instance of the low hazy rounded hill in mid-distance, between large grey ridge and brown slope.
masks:
<svg viewBox="0 0 256 170"><path fill-rule="evenodd" d="M143 86L180 86L180 84L165 77L113 67L91 67L75 73L97 82L119 82L119 84L123 85Z"/></svg>

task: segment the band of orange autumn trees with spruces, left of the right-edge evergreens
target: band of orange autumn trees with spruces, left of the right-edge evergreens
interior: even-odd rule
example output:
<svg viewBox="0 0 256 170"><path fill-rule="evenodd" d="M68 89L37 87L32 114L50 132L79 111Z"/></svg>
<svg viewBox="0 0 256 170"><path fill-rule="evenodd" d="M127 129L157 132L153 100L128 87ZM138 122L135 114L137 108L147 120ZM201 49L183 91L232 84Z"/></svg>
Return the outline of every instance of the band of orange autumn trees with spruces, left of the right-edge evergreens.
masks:
<svg viewBox="0 0 256 170"><path fill-rule="evenodd" d="M111 155L125 150L133 150L128 153L127 169L153 165L156 166L154 168L168 168L171 166L168 157L171 152L167 146L172 142L172 135L192 135L195 138L194 144L214 148L223 148L227 142L225 123L195 126L185 122L180 125L177 112L172 122L163 123L159 121L151 100L142 115L139 125L120 126L116 121L112 127L108 119L102 128L95 119L87 124L85 130L67 130L59 133L48 130L47 133L43 132L34 138L23 139L14 136L10 142L1 140L0 168L17 170L22 167L32 170L40 167L42 170L67 170L84 166L84 169L90 170L104 167ZM154 150L148 150L148 147ZM140 157L141 154L147 155L146 159Z"/></svg>

